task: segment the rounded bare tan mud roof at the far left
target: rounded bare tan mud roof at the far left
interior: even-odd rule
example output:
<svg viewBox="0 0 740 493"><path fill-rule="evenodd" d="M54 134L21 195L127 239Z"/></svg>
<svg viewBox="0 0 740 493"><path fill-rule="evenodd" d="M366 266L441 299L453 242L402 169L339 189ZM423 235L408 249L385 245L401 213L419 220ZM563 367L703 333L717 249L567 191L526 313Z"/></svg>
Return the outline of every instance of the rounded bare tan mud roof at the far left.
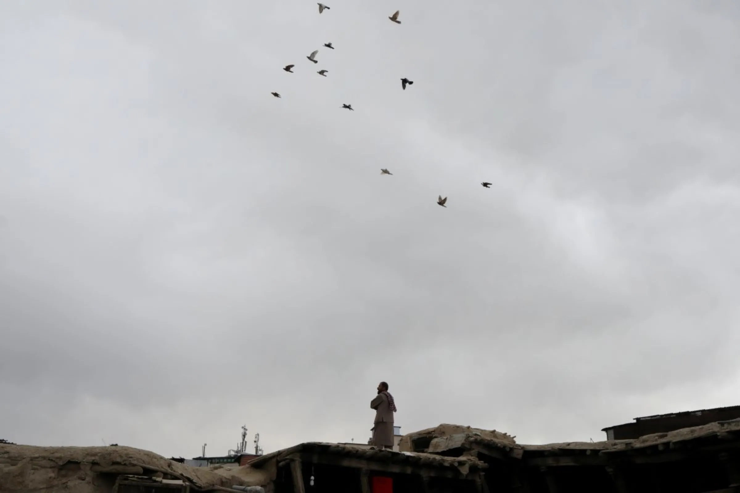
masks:
<svg viewBox="0 0 740 493"><path fill-rule="evenodd" d="M141 472L140 472L141 471ZM0 444L3 492L108 493L118 474L178 477L196 489L266 486L266 472L249 466L192 467L128 446L29 446Z"/></svg>

